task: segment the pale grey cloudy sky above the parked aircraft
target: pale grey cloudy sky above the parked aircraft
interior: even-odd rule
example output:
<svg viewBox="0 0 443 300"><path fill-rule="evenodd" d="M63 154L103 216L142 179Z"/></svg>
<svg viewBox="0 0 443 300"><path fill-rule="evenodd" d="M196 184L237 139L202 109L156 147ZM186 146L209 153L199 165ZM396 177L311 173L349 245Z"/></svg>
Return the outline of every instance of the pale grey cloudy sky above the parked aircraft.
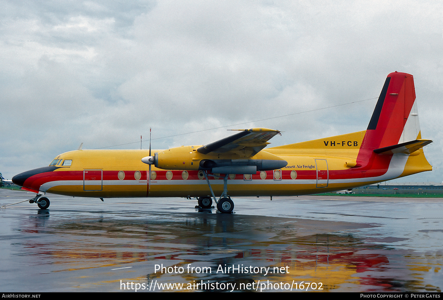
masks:
<svg viewBox="0 0 443 300"><path fill-rule="evenodd" d="M414 75L435 170L397 181L443 180L439 1L0 3L4 177L81 142L140 149L150 127L154 149L226 129L284 131L271 146L365 130L371 98L399 71Z"/></svg>

